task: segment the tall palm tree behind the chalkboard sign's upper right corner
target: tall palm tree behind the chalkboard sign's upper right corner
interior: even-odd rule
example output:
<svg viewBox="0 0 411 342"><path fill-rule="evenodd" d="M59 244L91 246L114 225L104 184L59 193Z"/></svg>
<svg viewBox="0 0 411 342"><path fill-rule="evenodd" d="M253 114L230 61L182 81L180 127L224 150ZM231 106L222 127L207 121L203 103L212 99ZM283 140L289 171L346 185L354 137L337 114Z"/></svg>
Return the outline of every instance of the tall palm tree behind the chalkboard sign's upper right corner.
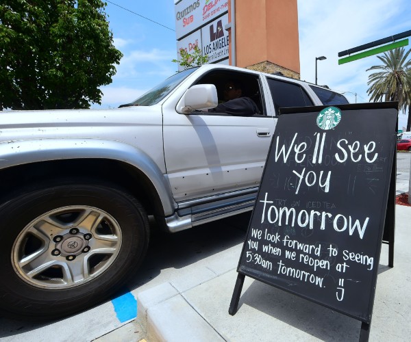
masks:
<svg viewBox="0 0 411 342"><path fill-rule="evenodd" d="M381 70L369 75L368 85L371 84L367 94L370 101L398 101L398 108L406 111L408 107L407 131L410 130L411 106L411 60L407 60L411 49L405 53L403 47L385 52L377 56L382 65L371 66L369 70Z"/></svg>

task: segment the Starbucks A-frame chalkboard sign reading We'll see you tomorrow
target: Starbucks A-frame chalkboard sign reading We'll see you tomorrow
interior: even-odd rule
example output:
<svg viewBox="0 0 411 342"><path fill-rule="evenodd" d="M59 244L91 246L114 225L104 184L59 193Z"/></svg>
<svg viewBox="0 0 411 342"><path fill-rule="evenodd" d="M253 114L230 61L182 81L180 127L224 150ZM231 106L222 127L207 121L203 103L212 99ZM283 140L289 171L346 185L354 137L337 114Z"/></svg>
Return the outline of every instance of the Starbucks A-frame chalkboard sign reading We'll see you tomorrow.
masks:
<svg viewBox="0 0 411 342"><path fill-rule="evenodd" d="M384 226L393 266L397 103L280 112L229 313L250 276L362 321L367 341Z"/></svg>

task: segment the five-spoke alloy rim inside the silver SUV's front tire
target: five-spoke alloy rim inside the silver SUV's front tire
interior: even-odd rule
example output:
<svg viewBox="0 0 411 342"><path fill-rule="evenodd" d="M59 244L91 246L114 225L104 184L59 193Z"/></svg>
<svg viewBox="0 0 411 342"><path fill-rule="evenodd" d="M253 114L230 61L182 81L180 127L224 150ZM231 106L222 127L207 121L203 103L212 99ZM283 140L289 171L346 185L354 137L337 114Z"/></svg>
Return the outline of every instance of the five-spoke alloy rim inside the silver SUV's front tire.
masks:
<svg viewBox="0 0 411 342"><path fill-rule="evenodd" d="M14 241L14 271L29 285L69 289L103 274L119 255L121 227L96 207L65 206L27 224Z"/></svg>

